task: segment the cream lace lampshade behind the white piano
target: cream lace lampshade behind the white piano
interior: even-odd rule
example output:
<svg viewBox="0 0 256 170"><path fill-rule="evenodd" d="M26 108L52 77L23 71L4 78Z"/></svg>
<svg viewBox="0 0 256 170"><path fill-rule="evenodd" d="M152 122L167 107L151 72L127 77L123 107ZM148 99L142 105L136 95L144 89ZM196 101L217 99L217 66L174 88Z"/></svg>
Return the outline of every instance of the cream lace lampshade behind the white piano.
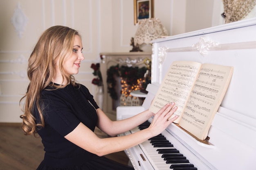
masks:
<svg viewBox="0 0 256 170"><path fill-rule="evenodd" d="M167 30L159 18L143 19L139 21L139 26L134 37L134 44L150 44L151 40L167 36L167 34Z"/></svg>

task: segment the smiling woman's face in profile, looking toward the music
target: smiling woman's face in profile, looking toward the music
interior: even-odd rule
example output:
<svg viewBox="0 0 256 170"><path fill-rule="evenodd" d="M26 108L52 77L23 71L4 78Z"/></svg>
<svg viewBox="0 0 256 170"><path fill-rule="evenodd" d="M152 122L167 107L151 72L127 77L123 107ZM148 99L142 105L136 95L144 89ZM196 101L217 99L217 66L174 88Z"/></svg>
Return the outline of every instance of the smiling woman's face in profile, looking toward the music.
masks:
<svg viewBox="0 0 256 170"><path fill-rule="evenodd" d="M84 59L82 50L83 45L81 38L79 35L75 35L72 54L65 59L63 65L66 74L69 76L78 73L80 63Z"/></svg>

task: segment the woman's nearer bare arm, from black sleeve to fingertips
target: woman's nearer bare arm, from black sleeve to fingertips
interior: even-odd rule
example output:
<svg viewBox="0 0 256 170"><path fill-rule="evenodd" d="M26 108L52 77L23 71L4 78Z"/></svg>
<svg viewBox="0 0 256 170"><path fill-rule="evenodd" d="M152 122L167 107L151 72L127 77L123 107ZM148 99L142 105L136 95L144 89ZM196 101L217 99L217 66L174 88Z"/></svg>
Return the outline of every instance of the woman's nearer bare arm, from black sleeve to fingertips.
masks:
<svg viewBox="0 0 256 170"><path fill-rule="evenodd" d="M101 139L88 129L88 127L80 123L72 132L67 134L65 138L88 152L99 156L119 152L162 133L164 129L177 119L176 116L168 121L168 118L177 110L177 107L173 108L173 106L174 104L165 105L155 114L153 121L147 129L130 135ZM146 113L142 113L141 115L143 114Z"/></svg>

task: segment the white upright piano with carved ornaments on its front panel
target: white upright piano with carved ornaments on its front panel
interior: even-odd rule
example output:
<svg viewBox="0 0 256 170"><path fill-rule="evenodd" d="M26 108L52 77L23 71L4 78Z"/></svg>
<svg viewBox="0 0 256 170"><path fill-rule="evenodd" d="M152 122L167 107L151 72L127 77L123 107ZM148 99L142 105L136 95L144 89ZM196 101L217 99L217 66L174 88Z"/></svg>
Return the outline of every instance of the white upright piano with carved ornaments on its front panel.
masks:
<svg viewBox="0 0 256 170"><path fill-rule="evenodd" d="M234 66L231 83L209 130L210 144L198 142L175 124L162 135L198 170L256 170L256 18L157 39L152 43L152 80L146 88L146 99L142 106L118 107L117 120L149 108L173 61ZM120 135L133 131L137 129ZM148 153L144 147L140 144L125 150L135 170L170 167L161 156Z"/></svg>

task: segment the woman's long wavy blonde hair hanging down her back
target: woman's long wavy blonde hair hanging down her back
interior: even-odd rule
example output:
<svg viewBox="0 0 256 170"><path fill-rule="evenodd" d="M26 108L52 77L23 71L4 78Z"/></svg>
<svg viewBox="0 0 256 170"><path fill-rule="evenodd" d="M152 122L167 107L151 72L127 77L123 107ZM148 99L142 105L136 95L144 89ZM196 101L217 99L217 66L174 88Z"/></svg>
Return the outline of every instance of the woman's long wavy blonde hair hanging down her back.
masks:
<svg viewBox="0 0 256 170"><path fill-rule="evenodd" d="M37 127L45 126L43 108L40 108L39 105L40 93L45 87L53 85L51 82L55 75L57 60L63 81L67 80L68 83L75 85L74 76L68 76L63 69L65 59L72 53L75 35L79 35L79 33L72 28L52 26L40 36L31 53L27 68L30 82L25 96L20 99L20 105L21 101L25 100L22 108L23 114L20 116L23 119L22 129L25 135L35 135ZM67 84L56 88L63 88ZM34 107L38 109L40 114L41 121L37 124L33 115Z"/></svg>

